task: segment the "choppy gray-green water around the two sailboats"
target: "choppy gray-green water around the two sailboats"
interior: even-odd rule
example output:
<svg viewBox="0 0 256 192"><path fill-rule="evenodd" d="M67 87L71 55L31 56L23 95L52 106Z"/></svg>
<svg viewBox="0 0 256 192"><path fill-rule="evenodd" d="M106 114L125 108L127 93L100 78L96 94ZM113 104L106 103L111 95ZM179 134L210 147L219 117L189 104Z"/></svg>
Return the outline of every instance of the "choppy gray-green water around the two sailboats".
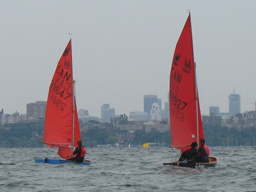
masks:
<svg viewBox="0 0 256 192"><path fill-rule="evenodd" d="M88 148L91 166L35 163L45 148L0 150L1 192L256 191L256 147L212 147L218 165L204 170L163 166L172 160L165 147Z"/></svg>

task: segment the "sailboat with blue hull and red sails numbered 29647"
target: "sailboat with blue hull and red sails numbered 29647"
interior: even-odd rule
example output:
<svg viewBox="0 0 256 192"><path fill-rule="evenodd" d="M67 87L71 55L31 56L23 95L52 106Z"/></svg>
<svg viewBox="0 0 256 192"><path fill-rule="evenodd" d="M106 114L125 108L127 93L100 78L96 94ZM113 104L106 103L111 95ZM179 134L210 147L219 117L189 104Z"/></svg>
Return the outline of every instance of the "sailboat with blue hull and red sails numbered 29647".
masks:
<svg viewBox="0 0 256 192"><path fill-rule="evenodd" d="M78 147L77 141L81 139L74 84L70 39L50 83L44 120L44 135L41 142L50 148L58 148L58 155L63 160L45 158L36 159L36 162L50 164L72 162L66 160L67 158L64 156L71 154L74 148ZM90 165L91 161L72 163Z"/></svg>

